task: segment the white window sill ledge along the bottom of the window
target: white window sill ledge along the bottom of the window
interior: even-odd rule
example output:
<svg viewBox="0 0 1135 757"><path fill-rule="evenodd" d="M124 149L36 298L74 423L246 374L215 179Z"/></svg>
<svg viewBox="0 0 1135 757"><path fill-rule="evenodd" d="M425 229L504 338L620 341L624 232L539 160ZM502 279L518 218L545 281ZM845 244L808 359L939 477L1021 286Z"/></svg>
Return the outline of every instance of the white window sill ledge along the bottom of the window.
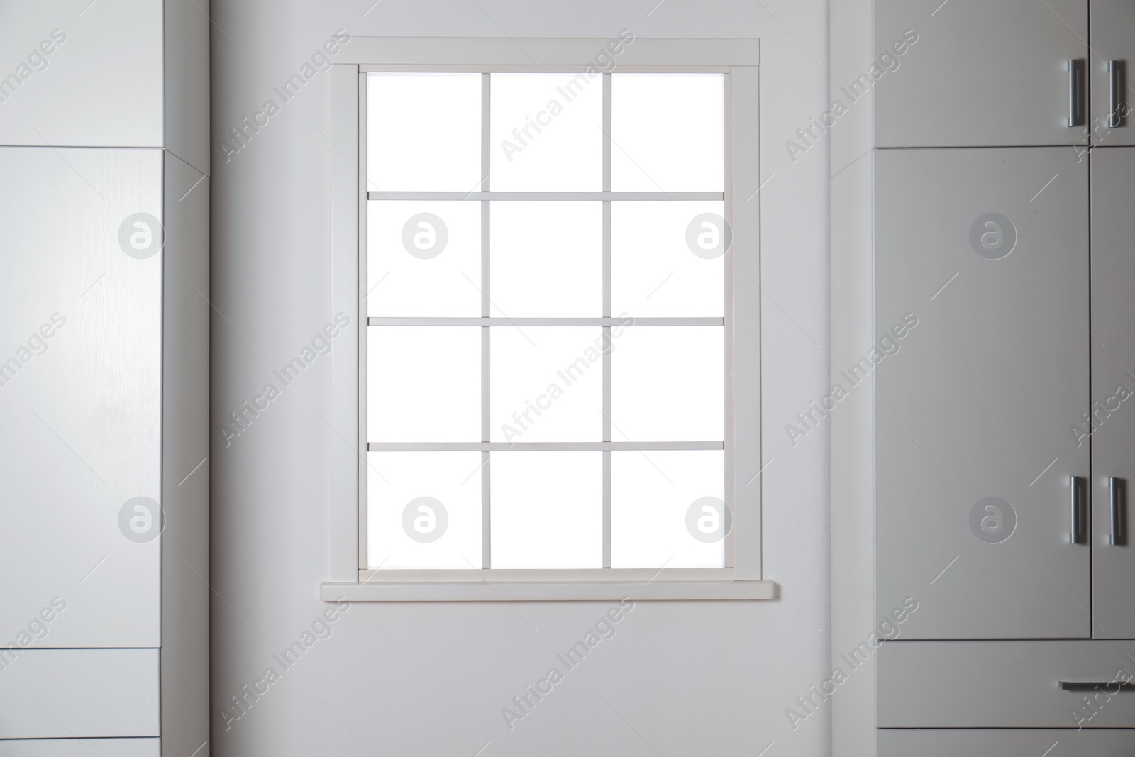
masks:
<svg viewBox="0 0 1135 757"><path fill-rule="evenodd" d="M772 581L739 581L732 569L620 571L360 571L327 582L323 602L754 602L776 598Z"/></svg>

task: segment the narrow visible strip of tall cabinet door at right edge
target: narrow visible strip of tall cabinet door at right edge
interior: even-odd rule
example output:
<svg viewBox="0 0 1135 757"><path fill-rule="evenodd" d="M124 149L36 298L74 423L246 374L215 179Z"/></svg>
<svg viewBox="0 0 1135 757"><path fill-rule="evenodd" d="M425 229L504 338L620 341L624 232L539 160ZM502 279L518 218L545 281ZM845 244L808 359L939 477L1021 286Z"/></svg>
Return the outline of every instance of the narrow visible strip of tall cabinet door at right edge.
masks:
<svg viewBox="0 0 1135 757"><path fill-rule="evenodd" d="M1116 491L1112 544L1109 479L1135 491L1135 148L1092 151L1092 419L1070 436L1092 445L1092 613L1094 636L1135 639L1135 547L1130 494ZM1093 431L1094 429L1094 431ZM1088 435L1091 435L1088 437ZM1127 528L1123 528L1127 525Z"/></svg>

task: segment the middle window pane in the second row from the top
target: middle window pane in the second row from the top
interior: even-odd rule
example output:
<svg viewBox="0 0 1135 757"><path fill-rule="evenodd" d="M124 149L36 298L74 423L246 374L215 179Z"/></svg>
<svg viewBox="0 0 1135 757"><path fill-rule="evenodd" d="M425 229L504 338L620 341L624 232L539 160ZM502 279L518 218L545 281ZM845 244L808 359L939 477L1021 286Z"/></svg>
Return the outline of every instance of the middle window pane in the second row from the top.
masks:
<svg viewBox="0 0 1135 757"><path fill-rule="evenodd" d="M494 316L603 314L603 203L493 202Z"/></svg>

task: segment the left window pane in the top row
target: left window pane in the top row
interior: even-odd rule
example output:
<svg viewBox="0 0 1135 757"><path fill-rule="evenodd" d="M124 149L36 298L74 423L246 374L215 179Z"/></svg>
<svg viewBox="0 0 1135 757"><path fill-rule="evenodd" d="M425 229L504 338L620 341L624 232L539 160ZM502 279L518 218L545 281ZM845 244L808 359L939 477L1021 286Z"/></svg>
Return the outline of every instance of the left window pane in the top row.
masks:
<svg viewBox="0 0 1135 757"><path fill-rule="evenodd" d="M367 77L370 190L480 188L481 75Z"/></svg>

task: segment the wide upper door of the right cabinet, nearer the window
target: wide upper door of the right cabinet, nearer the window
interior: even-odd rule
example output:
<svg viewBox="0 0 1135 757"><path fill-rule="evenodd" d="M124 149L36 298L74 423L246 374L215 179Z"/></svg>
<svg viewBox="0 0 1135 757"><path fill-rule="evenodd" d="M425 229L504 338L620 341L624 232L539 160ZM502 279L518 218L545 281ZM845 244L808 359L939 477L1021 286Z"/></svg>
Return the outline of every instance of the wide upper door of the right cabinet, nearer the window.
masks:
<svg viewBox="0 0 1135 757"><path fill-rule="evenodd" d="M897 54L905 35L917 41ZM874 85L878 146L1087 143L1068 124L1087 0L876 0L875 47L859 87L836 84L851 100Z"/></svg>

